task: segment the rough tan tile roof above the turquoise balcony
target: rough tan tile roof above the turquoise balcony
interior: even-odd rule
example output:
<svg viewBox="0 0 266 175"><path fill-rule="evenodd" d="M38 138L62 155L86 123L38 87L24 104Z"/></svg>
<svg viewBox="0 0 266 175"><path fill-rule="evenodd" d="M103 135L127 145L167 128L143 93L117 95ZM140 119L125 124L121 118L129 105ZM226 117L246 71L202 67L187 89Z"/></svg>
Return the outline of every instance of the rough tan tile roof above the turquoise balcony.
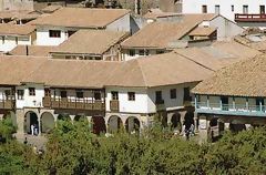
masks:
<svg viewBox="0 0 266 175"><path fill-rule="evenodd" d="M266 96L266 56L258 55L219 70L193 93L228 96Z"/></svg>

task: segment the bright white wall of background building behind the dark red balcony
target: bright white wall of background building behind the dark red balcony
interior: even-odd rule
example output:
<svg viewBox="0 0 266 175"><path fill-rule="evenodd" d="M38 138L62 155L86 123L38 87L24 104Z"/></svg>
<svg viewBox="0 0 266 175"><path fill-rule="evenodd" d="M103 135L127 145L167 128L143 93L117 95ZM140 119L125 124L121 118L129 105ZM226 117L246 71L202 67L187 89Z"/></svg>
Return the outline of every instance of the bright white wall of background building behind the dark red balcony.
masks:
<svg viewBox="0 0 266 175"><path fill-rule="evenodd" d="M202 6L207 6L208 13L215 13L215 6L219 6L219 13L234 21L235 13L243 13L243 6L248 6L248 13L259 13L259 6L266 6L265 0L183 0L183 13L202 13ZM232 11L234 6L234 11Z"/></svg>

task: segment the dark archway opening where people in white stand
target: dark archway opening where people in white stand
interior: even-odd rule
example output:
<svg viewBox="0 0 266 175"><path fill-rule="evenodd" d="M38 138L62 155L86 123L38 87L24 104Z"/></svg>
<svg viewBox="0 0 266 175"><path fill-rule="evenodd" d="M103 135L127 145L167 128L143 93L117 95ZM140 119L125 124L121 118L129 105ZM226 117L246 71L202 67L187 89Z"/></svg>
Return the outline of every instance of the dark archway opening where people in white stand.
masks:
<svg viewBox="0 0 266 175"><path fill-rule="evenodd" d="M39 119L38 119L37 113L29 111L24 115L24 133L32 134L31 133L32 125L34 127L39 128Z"/></svg>

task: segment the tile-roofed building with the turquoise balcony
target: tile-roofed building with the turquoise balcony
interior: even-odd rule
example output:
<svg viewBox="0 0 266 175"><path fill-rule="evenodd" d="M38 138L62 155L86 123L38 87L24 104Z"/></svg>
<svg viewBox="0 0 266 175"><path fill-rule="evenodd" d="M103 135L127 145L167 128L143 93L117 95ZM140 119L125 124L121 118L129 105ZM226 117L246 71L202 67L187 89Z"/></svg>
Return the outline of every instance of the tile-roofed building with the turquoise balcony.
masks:
<svg viewBox="0 0 266 175"><path fill-rule="evenodd" d="M266 124L265 65L265 55L247 59L193 89L200 133L214 137L225 128L237 132Z"/></svg>

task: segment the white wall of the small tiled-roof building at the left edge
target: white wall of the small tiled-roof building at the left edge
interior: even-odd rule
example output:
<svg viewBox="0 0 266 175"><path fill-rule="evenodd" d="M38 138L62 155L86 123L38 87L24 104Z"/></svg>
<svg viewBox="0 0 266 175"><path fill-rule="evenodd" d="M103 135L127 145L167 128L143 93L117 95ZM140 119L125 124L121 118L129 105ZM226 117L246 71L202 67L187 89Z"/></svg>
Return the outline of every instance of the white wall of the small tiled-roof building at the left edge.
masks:
<svg viewBox="0 0 266 175"><path fill-rule="evenodd" d="M18 43L16 43L16 37L6 35L4 41L0 37L0 51L9 52L17 45L31 45L31 37L17 37Z"/></svg>

